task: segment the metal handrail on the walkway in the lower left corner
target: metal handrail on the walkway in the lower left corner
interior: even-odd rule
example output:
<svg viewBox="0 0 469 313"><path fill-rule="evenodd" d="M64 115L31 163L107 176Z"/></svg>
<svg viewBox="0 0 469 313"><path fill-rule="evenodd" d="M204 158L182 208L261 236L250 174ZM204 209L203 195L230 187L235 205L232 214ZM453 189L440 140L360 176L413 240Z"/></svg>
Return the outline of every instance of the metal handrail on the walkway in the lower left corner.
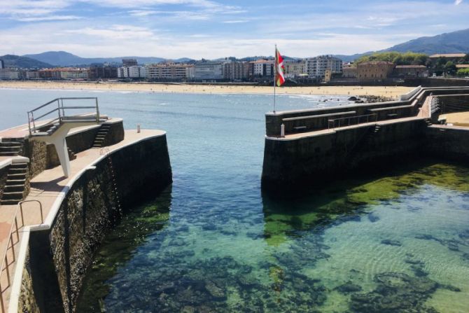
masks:
<svg viewBox="0 0 469 313"><path fill-rule="evenodd" d="M19 230L22 227L25 227L25 216L23 215L23 206L22 204L25 202L38 202L39 204L39 209L41 209L41 224L44 223L44 218L43 218L43 211L42 211L42 203L38 200L25 200L21 201L18 203L15 211L15 216L13 218L13 222L11 223L10 227L10 232L8 234L8 242L6 242L6 248L5 252L3 253L2 261L1 261L1 270L0 270L0 305L1 305L1 312L6 312L5 311L5 301L3 299L3 292L5 292L11 285L11 278L10 278L10 270L8 269L8 266L12 265L16 261L16 256L15 256L15 244L18 244L20 241L20 232ZM21 223L22 225L18 228L18 209L20 209L21 213ZM13 239L13 234L16 233L16 242ZM11 249L11 254L13 256L13 260L11 260L10 263L8 263L8 250ZM6 279L8 281L8 286L6 286L3 289L3 286L1 286L1 278L3 277L3 271L6 271Z"/></svg>

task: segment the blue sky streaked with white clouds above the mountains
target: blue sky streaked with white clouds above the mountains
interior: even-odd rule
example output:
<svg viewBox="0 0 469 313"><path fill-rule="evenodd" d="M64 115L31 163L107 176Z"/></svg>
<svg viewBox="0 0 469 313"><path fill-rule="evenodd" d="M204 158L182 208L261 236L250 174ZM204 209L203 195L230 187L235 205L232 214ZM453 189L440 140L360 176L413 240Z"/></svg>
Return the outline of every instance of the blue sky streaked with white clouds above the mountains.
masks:
<svg viewBox="0 0 469 313"><path fill-rule="evenodd" d="M469 28L469 0L0 0L0 55L351 55Z"/></svg>

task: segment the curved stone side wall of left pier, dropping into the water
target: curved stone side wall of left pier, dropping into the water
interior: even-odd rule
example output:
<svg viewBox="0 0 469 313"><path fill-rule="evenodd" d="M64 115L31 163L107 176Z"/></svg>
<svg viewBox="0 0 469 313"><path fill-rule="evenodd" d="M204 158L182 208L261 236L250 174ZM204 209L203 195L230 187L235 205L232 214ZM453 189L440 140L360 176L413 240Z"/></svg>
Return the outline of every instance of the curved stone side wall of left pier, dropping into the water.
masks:
<svg viewBox="0 0 469 313"><path fill-rule="evenodd" d="M125 146L88 167L46 230L31 231L21 312L74 312L94 251L126 211L172 183L165 134Z"/></svg>

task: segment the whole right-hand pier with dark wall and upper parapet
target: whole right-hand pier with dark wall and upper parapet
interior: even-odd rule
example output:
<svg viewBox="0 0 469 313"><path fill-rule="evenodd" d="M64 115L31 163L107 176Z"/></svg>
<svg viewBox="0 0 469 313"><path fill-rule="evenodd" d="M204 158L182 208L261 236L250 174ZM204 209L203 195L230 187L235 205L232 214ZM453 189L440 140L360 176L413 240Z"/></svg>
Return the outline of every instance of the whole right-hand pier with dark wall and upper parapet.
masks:
<svg viewBox="0 0 469 313"><path fill-rule="evenodd" d="M468 162L469 127L438 122L469 111L468 95L469 87L416 88L395 102L267 113L262 188L284 194L412 158Z"/></svg>

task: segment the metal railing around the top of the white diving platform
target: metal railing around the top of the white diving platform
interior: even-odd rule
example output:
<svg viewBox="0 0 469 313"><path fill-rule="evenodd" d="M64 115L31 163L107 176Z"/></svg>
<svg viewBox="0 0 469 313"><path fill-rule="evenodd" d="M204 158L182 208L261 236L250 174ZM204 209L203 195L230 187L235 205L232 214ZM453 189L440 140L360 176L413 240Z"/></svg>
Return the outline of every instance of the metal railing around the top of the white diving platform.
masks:
<svg viewBox="0 0 469 313"><path fill-rule="evenodd" d="M94 105L93 106L64 106L64 100L65 101L71 101L71 100L94 100ZM41 114L41 116L34 117L34 113L38 110L41 110L45 108L46 106L52 106L52 105L57 105L54 109ZM66 117L65 114L65 109L95 109L96 110L96 122L99 123L99 106L98 106L98 98L97 97L69 97L69 98L57 98L53 99L52 101L43 104L41 106L38 106L36 109L28 111L28 127L29 127L29 134L34 134L38 131L38 128L43 128L49 125L53 125L55 123L62 123L64 118ZM36 127L36 122L40 120L41 118L44 118L46 116L50 116L52 113L57 112L57 118L52 118L48 123L45 123L43 125L40 125L39 127Z"/></svg>

